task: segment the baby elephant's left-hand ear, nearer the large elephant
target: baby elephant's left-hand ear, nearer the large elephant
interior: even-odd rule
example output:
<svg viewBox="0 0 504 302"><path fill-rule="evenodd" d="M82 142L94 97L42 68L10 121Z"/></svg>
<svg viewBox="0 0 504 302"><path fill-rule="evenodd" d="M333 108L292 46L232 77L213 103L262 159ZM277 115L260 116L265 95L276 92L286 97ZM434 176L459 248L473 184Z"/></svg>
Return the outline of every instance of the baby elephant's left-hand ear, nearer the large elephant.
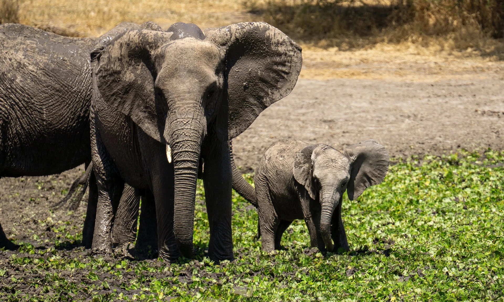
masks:
<svg viewBox="0 0 504 302"><path fill-rule="evenodd" d="M317 189L312 179L313 165L311 162L311 155L316 147L317 145L309 145L302 148L297 153L294 168L292 168L294 179L306 188L312 199L317 198Z"/></svg>

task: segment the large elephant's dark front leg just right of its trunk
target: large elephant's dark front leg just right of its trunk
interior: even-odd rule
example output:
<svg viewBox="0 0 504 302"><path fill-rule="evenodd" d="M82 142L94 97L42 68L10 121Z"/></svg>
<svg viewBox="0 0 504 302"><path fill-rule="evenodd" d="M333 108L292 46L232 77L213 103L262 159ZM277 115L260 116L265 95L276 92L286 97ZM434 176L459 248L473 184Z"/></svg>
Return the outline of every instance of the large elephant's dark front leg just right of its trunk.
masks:
<svg viewBox="0 0 504 302"><path fill-rule="evenodd" d="M209 257L214 261L233 260L231 162L226 140L220 140L205 153L203 183L210 224Z"/></svg>

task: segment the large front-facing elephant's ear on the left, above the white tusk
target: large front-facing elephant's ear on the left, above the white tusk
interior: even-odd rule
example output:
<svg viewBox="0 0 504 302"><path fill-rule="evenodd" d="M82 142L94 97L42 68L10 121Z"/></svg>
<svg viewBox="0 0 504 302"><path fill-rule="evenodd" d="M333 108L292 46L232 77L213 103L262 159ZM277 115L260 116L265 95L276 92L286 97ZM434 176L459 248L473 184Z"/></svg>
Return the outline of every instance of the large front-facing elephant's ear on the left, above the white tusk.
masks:
<svg viewBox="0 0 504 302"><path fill-rule="evenodd" d="M153 53L171 32L127 30L91 53L95 101L128 115L149 136L165 143L162 104L154 91Z"/></svg>

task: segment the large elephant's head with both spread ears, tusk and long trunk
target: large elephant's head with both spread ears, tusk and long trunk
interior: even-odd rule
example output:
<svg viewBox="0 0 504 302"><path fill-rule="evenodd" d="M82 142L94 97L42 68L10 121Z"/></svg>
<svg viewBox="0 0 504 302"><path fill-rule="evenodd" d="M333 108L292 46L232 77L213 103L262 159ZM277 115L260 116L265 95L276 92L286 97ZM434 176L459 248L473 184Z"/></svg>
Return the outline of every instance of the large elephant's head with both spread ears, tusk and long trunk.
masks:
<svg viewBox="0 0 504 302"><path fill-rule="evenodd" d="M95 98L166 146L174 167L175 240L190 257L196 180L209 127L225 140L243 132L290 93L302 58L301 48L267 23L205 33L195 26L189 34L178 32L179 25L170 27L174 32L124 31L91 56Z"/></svg>

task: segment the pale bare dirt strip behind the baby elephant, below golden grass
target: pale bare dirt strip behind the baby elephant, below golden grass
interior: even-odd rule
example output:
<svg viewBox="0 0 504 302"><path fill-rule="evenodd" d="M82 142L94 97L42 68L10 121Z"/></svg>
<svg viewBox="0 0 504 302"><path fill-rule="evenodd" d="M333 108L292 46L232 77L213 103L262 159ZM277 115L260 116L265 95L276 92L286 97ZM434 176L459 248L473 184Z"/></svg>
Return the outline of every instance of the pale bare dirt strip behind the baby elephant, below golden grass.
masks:
<svg viewBox="0 0 504 302"><path fill-rule="evenodd" d="M373 138L394 158L442 155L459 148L504 148L501 63L487 73L475 68L470 73L435 75L428 70L435 64L428 62L372 69L375 65L332 71L355 69L357 79L299 79L289 96L267 108L233 140L237 165L242 171L253 170L266 149L287 136L338 149ZM407 75L399 78L394 74L398 69ZM414 74L415 69L423 71ZM372 80L358 79L362 70Z"/></svg>

